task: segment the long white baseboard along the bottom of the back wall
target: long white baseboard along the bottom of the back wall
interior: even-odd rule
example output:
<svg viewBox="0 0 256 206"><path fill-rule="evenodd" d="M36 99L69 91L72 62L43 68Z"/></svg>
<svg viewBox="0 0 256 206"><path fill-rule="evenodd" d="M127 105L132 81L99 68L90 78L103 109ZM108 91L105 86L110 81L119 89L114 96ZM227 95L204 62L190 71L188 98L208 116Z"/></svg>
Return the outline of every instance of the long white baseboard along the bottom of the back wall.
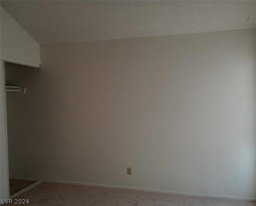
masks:
<svg viewBox="0 0 256 206"><path fill-rule="evenodd" d="M22 177L13 177L12 179L17 180L31 180L36 181L37 178L22 178ZM173 192L168 190L154 190L154 189L144 189L144 188L136 188L136 187L126 187L126 186L116 186L116 185L108 185L108 184L94 184L94 183L85 183L85 182L71 182L65 180L42 180L42 182L53 182L53 183L62 183L62 184L77 184L84 186L94 186L94 187L105 187L105 188L118 188L118 189L126 189L126 190L138 190L144 192L157 192L157 193L165 193L165 194L177 194L177 195L186 195L186 196L196 196L196 197L206 197L206 198L220 198L220 199L230 199L230 200L247 200L247 201L256 201L256 198L242 198L236 196L221 196L221 195L211 195L211 194L197 194L197 193L188 193L188 192Z"/></svg>

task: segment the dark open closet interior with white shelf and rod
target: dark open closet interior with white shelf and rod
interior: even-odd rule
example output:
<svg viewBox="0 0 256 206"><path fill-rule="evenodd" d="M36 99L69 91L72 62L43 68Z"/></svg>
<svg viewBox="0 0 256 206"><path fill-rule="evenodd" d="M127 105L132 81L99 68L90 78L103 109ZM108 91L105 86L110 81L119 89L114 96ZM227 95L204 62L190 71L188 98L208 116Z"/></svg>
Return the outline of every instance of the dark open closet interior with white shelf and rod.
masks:
<svg viewBox="0 0 256 206"><path fill-rule="evenodd" d="M28 178L36 161L36 156L31 158L36 132L28 129L34 127L34 120L24 109L33 98L33 78L37 73L32 67L4 62L10 198L41 182L36 177Z"/></svg>

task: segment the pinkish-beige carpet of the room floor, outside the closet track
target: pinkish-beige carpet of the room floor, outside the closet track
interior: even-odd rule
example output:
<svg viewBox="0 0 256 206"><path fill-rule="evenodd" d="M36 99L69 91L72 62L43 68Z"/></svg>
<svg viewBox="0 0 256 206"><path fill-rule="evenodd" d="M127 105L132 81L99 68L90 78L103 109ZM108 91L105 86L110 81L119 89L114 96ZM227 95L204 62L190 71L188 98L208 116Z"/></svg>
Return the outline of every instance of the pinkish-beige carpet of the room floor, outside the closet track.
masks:
<svg viewBox="0 0 256 206"><path fill-rule="evenodd" d="M42 182L15 199L33 206L256 206L253 201Z"/></svg>

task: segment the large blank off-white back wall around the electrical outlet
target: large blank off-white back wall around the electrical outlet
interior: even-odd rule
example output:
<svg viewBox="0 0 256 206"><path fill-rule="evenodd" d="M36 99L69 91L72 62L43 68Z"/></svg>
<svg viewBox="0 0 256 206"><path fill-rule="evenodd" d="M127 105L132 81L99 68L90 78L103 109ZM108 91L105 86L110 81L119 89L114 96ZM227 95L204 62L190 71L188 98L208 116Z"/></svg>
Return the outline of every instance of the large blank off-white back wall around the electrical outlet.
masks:
<svg viewBox="0 0 256 206"><path fill-rule="evenodd" d="M12 176L256 198L255 38L42 45L40 70L6 72L28 87L7 95Z"/></svg>

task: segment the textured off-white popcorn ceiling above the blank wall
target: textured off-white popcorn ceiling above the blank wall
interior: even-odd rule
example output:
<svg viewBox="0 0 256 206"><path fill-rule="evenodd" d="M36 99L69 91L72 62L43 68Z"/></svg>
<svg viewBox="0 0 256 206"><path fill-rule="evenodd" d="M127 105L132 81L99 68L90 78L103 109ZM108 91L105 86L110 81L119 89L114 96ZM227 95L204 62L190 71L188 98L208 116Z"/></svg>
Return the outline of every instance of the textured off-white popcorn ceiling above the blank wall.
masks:
<svg viewBox="0 0 256 206"><path fill-rule="evenodd" d="M1 0L0 4L40 44L256 28L256 1Z"/></svg>

